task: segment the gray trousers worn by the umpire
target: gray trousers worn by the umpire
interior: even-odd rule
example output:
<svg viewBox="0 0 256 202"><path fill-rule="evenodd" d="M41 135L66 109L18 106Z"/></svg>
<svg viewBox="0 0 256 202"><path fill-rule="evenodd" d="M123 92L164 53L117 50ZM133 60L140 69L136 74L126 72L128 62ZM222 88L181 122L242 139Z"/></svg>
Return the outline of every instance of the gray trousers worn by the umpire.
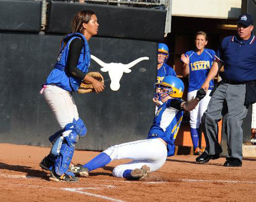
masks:
<svg viewBox="0 0 256 202"><path fill-rule="evenodd" d="M243 130L241 125L248 109L245 102L245 84L233 85L221 82L212 94L207 110L202 117L202 128L208 155L220 154L218 143L218 121L227 113L225 130L227 134L227 158L242 161Z"/></svg>

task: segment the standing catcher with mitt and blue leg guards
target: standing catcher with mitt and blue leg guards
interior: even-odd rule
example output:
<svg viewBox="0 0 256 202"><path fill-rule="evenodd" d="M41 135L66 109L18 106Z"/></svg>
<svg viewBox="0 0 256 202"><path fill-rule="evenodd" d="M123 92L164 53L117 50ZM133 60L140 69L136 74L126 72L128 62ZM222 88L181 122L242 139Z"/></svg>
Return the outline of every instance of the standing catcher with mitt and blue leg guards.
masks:
<svg viewBox="0 0 256 202"><path fill-rule="evenodd" d="M98 72L87 73L91 60L88 40L97 34L98 27L93 11L82 10L76 14L71 33L62 40L54 69L40 91L61 128L49 138L53 144L50 154L39 164L42 169L51 171L52 181L78 182L68 168L75 144L86 135L87 129L78 116L72 92L99 93L104 90L102 76Z"/></svg>

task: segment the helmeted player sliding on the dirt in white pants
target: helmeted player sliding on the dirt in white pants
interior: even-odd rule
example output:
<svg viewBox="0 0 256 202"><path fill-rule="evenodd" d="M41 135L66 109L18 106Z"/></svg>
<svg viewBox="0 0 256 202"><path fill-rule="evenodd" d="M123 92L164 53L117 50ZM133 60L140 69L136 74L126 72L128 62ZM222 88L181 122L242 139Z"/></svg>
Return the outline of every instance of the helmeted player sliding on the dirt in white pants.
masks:
<svg viewBox="0 0 256 202"><path fill-rule="evenodd" d="M147 172L161 168L166 157L174 155L174 141L180 128L183 111L195 108L206 92L200 89L194 99L185 102L181 99L184 84L174 76L167 76L161 83L156 83L156 90L153 102L158 106L158 112L147 139L111 146L88 163L70 167L70 171L88 176L88 171L100 168L115 159L133 160L114 168L113 175L117 178L142 179Z"/></svg>

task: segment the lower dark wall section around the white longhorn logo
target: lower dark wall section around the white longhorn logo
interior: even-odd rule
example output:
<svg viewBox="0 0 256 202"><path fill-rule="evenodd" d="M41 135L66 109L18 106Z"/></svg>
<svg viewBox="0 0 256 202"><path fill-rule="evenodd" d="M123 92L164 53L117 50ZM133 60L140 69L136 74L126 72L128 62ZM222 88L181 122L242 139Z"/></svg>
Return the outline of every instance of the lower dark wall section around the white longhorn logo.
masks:
<svg viewBox="0 0 256 202"><path fill-rule="evenodd" d="M53 113L40 95L56 61L63 36L0 34L0 142L50 146L48 137L59 130ZM74 94L78 112L88 128L76 148L102 150L113 144L144 139L154 117L157 43L93 37L91 54L105 63L127 64L149 57L123 73L120 89L110 89L108 72L91 61L90 71L105 78L105 90Z"/></svg>

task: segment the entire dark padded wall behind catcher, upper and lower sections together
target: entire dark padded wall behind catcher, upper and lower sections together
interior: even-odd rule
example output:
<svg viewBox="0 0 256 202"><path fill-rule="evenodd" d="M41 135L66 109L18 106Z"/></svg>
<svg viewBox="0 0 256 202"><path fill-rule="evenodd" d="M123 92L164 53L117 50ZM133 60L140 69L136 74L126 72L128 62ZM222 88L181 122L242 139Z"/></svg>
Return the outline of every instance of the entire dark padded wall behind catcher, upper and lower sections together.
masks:
<svg viewBox="0 0 256 202"><path fill-rule="evenodd" d="M50 146L59 125L39 94L53 69L59 44L76 12L92 9L100 24L89 41L91 54L105 63L128 64L148 57L123 73L120 88L110 88L108 72L91 60L105 90L76 94L80 118L88 128L76 148L103 150L113 144L145 139L154 118L157 41L163 39L166 11L49 2L47 30L40 32L41 2L0 0L0 142Z"/></svg>

